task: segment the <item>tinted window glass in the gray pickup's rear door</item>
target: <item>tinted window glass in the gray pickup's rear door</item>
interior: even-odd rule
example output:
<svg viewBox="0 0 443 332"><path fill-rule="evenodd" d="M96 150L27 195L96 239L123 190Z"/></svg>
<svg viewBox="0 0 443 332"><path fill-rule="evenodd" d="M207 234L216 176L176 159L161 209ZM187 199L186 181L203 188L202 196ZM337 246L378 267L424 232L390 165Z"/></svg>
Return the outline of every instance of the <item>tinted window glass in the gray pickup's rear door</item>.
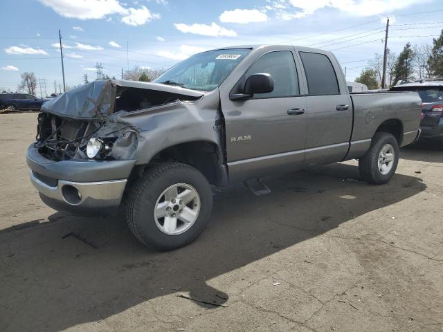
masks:
<svg viewBox="0 0 443 332"><path fill-rule="evenodd" d="M338 95L337 75L331 60L324 54L300 52L309 95Z"/></svg>

